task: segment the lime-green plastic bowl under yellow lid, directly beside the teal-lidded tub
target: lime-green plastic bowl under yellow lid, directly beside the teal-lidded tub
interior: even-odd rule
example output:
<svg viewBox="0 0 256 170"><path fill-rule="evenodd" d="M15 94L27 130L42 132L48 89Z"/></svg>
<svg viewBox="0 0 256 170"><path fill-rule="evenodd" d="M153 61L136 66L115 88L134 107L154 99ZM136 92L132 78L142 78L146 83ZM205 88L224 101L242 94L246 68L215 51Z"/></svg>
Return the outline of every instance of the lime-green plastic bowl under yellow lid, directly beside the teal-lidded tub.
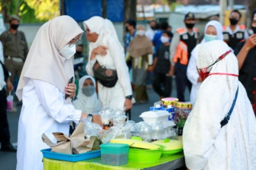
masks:
<svg viewBox="0 0 256 170"><path fill-rule="evenodd" d="M137 149L137 148L129 148L129 155L128 155L128 160L133 161L133 162L145 162L145 163L150 163L150 162L157 162L162 154L162 151L164 150L165 146L163 145L158 145L161 148L159 149ZM101 149L102 152L102 149Z"/></svg>

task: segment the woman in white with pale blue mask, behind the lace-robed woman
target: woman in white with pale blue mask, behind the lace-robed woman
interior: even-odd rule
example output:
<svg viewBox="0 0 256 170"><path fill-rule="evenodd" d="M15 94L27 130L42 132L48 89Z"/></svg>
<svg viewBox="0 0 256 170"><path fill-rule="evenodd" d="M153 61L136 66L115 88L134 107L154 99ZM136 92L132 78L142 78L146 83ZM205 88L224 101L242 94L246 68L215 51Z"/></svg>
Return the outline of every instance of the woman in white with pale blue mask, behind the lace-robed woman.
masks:
<svg viewBox="0 0 256 170"><path fill-rule="evenodd" d="M215 38L216 40L223 41L223 34L222 34L222 25L219 21L209 21L204 29L204 39L201 41L200 44L203 44L210 38ZM202 80L199 78L198 72L196 70L196 48L197 46L192 50L191 56L188 62L188 69L187 69L187 77L188 80L192 84L191 92L190 92L190 102L195 103L196 102L196 95L199 90L200 85L202 84Z"/></svg>

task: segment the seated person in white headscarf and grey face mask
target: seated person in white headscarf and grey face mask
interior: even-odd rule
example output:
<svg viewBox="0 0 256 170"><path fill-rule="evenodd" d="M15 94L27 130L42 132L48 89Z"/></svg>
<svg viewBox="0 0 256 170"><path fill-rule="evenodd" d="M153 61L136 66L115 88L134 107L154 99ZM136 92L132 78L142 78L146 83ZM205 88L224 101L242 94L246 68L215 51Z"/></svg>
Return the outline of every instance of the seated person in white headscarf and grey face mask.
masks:
<svg viewBox="0 0 256 170"><path fill-rule="evenodd" d="M84 113L97 114L99 112L99 100L97 97L96 82L91 76L83 76L79 79L77 99L73 102L77 110Z"/></svg>

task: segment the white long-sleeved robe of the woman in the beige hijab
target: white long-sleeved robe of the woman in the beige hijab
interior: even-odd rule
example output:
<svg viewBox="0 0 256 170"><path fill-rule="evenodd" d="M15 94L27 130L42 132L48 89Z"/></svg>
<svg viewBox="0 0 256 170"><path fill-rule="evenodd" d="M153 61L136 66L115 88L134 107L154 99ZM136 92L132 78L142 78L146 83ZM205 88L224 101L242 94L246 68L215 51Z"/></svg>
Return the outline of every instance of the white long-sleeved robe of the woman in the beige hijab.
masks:
<svg viewBox="0 0 256 170"><path fill-rule="evenodd" d="M79 122L81 111L65 104L64 96L50 83L27 80L22 93L16 170L43 170L43 155L40 151L50 147L42 141L42 134L62 132L68 135L68 122ZM49 138L55 141L53 136Z"/></svg>

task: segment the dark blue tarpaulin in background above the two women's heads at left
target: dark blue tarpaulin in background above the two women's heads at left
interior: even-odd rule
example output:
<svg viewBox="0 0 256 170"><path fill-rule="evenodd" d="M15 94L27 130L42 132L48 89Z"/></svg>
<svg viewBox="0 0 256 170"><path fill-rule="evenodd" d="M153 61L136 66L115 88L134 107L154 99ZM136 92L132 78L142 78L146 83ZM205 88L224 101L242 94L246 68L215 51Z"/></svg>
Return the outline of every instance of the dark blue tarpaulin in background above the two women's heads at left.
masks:
<svg viewBox="0 0 256 170"><path fill-rule="evenodd" d="M92 16L102 16L102 0L64 0L64 14L77 22ZM124 0L107 0L107 18L113 22L124 20Z"/></svg>

